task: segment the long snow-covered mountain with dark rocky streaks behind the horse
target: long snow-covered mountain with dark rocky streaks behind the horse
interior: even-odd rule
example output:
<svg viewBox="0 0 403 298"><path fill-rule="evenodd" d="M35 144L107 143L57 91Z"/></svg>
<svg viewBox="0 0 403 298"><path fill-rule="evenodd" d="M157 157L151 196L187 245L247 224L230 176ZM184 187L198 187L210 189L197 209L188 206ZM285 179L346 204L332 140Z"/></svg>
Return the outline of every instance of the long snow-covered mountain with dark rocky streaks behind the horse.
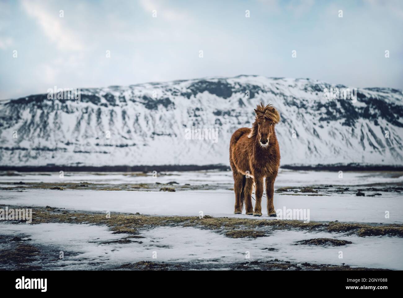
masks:
<svg viewBox="0 0 403 298"><path fill-rule="evenodd" d="M0 165L227 165L231 134L251 127L260 102L280 111L283 165L402 165L401 90L358 88L353 102L325 99L326 88L317 80L237 76L81 89L80 102L47 93L7 100ZM197 139L192 127L218 136Z"/></svg>

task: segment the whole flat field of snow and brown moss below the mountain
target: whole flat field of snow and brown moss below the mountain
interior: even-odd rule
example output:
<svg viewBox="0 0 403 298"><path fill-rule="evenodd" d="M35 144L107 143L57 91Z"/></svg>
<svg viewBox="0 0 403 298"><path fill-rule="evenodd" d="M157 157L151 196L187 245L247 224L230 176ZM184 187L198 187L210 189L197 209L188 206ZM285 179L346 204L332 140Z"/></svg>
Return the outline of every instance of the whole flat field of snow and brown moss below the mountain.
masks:
<svg viewBox="0 0 403 298"><path fill-rule="evenodd" d="M33 209L0 221L1 269L403 269L401 172L280 171L275 209L307 218L234 215L230 171L59 175L0 176Z"/></svg>

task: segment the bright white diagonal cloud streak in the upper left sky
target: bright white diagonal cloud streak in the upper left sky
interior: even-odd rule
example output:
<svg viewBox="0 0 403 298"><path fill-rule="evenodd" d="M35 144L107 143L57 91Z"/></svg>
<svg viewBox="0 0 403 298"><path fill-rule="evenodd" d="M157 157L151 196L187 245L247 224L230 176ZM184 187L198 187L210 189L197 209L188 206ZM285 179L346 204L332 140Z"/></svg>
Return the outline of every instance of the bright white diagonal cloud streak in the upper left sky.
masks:
<svg viewBox="0 0 403 298"><path fill-rule="evenodd" d="M83 49L74 33L62 25L62 18L59 18L58 11L54 14L49 13L44 8L44 2L24 0L21 3L25 12L37 21L44 34L56 44L58 49L67 51Z"/></svg>

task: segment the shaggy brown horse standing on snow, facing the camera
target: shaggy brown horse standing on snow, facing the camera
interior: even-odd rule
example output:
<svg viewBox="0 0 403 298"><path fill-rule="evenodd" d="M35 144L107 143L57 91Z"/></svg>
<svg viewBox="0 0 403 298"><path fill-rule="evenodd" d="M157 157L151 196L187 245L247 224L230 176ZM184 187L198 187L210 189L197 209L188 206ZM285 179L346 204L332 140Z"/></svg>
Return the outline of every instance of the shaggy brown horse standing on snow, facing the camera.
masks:
<svg viewBox="0 0 403 298"><path fill-rule="evenodd" d="M276 216L273 194L280 149L274 125L280 122L280 114L271 104L264 106L262 103L255 112L252 128L243 127L235 131L229 145L229 161L234 176L234 213L241 214L245 204L247 215L262 216L263 178L266 178L267 214ZM253 183L256 189L255 211L251 198Z"/></svg>

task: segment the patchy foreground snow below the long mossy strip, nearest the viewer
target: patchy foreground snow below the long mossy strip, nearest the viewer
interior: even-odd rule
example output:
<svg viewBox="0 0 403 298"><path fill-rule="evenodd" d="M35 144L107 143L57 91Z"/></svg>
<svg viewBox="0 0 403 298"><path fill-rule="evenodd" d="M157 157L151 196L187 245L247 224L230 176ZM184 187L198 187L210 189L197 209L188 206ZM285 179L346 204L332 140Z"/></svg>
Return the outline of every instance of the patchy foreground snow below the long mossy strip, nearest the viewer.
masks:
<svg viewBox="0 0 403 298"><path fill-rule="evenodd" d="M277 258L293 263L346 263L360 267L403 269L403 239L398 237L273 231L269 237L233 239L192 227L157 227L142 234L145 237L140 239L142 243L104 244L101 242L116 240L125 235L112 235L106 227L87 224L0 224L0 227L3 235L13 237L25 233L33 239L31 244L56 247L55 261L49 265L50 269L59 265L63 265L60 269L66 270L91 269L91 263L95 265L100 262L108 268L138 261L222 262L225 268L228 263L245 262L247 252L249 261ZM353 244L343 247L294 245L296 241L322 237L347 240ZM267 248L275 248L276 251L268 251ZM59 250L65 252L65 259L58 259ZM69 256L71 251L79 254ZM342 259L339 258L340 251L343 252Z"/></svg>

